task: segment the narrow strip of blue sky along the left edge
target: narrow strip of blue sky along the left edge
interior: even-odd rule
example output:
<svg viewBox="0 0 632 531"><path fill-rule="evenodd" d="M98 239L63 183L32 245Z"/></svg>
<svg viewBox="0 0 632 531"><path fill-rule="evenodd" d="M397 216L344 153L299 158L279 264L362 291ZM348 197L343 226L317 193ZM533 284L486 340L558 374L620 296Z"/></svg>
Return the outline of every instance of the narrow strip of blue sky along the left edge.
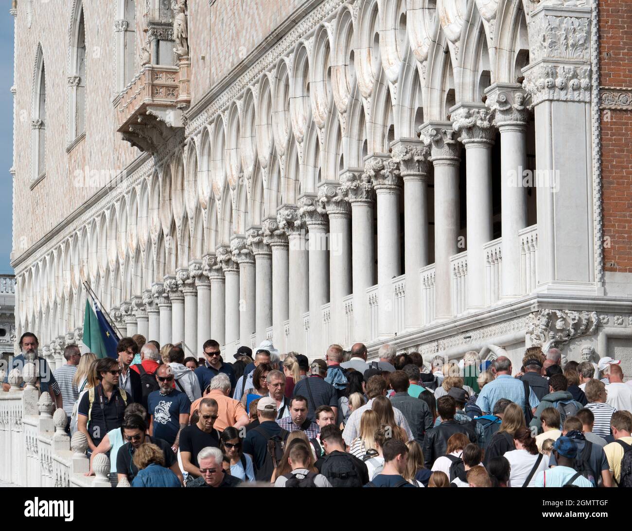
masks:
<svg viewBox="0 0 632 531"><path fill-rule="evenodd" d="M0 273L13 273L9 265L13 232L13 16L9 3L0 9Z"/></svg>

